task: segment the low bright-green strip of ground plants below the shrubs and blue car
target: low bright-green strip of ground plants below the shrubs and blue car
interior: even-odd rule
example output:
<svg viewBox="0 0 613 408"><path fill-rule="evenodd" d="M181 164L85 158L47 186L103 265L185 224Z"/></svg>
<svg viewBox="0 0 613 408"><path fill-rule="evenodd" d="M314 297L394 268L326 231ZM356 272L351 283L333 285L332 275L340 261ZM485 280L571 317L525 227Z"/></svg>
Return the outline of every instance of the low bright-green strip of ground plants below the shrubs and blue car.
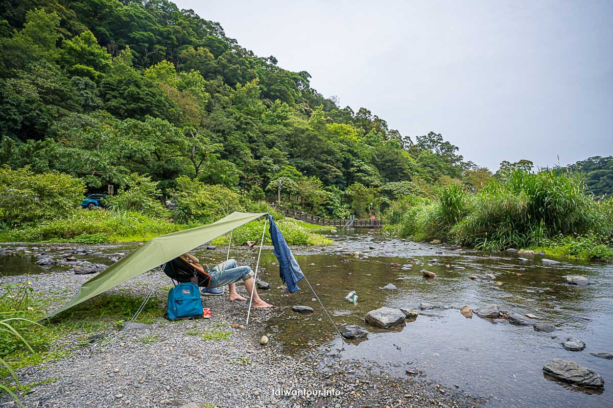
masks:
<svg viewBox="0 0 613 408"><path fill-rule="evenodd" d="M125 242L149 240L185 228L134 212L80 210L69 218L8 232L5 238L26 242Z"/></svg>

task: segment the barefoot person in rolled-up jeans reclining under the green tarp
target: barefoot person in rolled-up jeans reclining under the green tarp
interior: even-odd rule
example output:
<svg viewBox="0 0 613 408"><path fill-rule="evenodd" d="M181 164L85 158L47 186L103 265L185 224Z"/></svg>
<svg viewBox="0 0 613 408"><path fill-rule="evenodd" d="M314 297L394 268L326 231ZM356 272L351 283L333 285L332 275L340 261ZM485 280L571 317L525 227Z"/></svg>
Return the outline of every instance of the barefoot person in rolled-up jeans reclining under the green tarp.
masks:
<svg viewBox="0 0 613 408"><path fill-rule="evenodd" d="M228 259L227 261L221 262L221 264L215 265L212 269L205 271L204 267L200 265L198 258L193 256L190 253L185 253L182 256L179 256L182 261L190 262L191 265L202 272L204 275L210 276L208 279L208 285L202 289L202 294L204 295L221 295L223 291L218 289L219 287L224 287L226 285L230 288L230 294L228 299L230 302L234 302L238 300L240 302L246 302L246 299L239 295L236 291L236 284L238 281L242 280L245 282L245 287L247 292L250 294L253 291L253 302L252 305L254 308L272 308L273 305L270 303L264 302L264 300L259 297L257 294L257 289L254 286L255 281L253 278L253 271L248 266L238 266L238 262L235 259Z"/></svg>

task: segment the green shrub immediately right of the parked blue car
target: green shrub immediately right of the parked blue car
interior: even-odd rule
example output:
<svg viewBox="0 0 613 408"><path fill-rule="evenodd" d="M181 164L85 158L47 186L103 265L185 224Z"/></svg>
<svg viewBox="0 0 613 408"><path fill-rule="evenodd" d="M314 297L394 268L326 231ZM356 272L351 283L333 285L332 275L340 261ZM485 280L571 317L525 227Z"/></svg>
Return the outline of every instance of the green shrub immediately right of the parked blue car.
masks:
<svg viewBox="0 0 613 408"><path fill-rule="evenodd" d="M109 196L105 204L110 210L139 212L148 217L161 217L166 212L166 207L156 198L160 194L158 182L151 181L151 177L132 173L126 186L120 188L116 195Z"/></svg>

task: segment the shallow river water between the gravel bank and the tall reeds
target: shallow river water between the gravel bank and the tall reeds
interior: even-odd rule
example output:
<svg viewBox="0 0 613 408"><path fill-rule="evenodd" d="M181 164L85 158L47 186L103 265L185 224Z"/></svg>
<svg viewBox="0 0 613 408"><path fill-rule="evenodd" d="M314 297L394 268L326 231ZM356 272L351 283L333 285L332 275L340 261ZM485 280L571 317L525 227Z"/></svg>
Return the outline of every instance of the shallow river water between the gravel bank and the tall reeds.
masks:
<svg viewBox="0 0 613 408"><path fill-rule="evenodd" d="M613 381L613 362L589 354L613 351L613 265L568 261L543 265L542 256L526 256L530 259L521 262L515 255L403 242L384 234L339 233L335 240L337 251L360 251L368 258L332 250L329 254L308 251L297 259L337 324L357 324L371 332L365 341L349 341L341 358L386 363L398 376L406 375L407 369L422 373L448 387L459 385L473 395L490 395L489 405L495 407L613 406L609 390L562 384L547 379L542 371L548 360L562 358L594 369L606 383ZM265 256L262 275L273 288L280 284L275 261L272 254ZM390 264L413 267L402 270ZM422 269L437 277L426 280ZM468 278L484 273L493 273L495 280ZM562 276L569 274L587 275L595 283L567 286ZM398 289L379 289L388 283ZM269 321L275 340L294 353L314 346L340 348L341 341L321 306L312 301L313 293L307 284L299 286L303 290L292 295L280 289L265 294L282 308L280 316ZM357 306L345 299L352 290L359 295ZM416 321L394 330L364 322L364 315L380 306L417 308L421 302L449 309L425 310ZM478 308L485 303L496 303L504 311L533 313L538 321L554 324L557 331L535 332L532 327L476 315L466 319L453 308ZM296 304L311 306L315 313L294 313L291 306ZM563 349L560 343L570 336L583 339L585 350Z"/></svg>

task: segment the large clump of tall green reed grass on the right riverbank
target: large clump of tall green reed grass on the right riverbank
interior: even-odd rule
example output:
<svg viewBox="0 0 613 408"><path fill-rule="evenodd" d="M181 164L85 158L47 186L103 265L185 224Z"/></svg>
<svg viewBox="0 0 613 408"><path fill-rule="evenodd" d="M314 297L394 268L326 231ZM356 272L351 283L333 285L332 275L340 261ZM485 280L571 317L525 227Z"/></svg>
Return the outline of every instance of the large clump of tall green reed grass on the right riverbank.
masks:
<svg viewBox="0 0 613 408"><path fill-rule="evenodd" d="M612 209L611 200L595 200L579 177L515 170L478 193L442 188L434 199L409 206L398 232L482 250L529 248L559 235L612 237Z"/></svg>

